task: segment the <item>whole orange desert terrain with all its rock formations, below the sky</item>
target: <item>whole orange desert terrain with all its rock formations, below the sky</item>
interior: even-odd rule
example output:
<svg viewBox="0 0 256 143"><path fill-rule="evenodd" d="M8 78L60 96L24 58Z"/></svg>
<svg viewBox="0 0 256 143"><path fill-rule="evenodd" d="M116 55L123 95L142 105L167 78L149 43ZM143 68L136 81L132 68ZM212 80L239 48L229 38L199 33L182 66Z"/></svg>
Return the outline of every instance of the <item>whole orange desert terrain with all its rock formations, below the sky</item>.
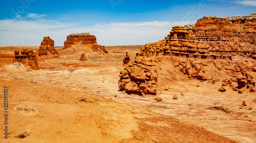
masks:
<svg viewBox="0 0 256 143"><path fill-rule="evenodd" d="M256 142L256 13L205 16L145 45L96 37L0 47L0 142Z"/></svg>

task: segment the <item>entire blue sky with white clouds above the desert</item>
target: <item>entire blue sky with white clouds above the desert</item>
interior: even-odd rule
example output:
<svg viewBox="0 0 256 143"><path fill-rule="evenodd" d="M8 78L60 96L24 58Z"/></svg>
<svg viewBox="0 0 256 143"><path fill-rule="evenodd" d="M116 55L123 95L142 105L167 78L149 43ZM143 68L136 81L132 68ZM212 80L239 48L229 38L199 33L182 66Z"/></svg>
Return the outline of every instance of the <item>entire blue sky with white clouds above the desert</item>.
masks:
<svg viewBox="0 0 256 143"><path fill-rule="evenodd" d="M243 0L0 0L0 46L40 46L47 36L63 46L69 34L85 32L105 46L144 45L206 15L253 12L256 1Z"/></svg>

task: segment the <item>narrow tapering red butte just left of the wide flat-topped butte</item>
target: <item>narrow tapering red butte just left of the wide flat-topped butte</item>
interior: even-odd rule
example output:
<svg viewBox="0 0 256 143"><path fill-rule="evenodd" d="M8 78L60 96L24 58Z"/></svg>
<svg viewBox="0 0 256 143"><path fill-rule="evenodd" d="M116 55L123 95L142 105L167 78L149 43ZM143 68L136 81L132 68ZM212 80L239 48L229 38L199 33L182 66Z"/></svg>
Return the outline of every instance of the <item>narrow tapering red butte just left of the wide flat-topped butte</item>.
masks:
<svg viewBox="0 0 256 143"><path fill-rule="evenodd" d="M52 40L49 36L44 37L44 40L41 42L38 55L47 55L54 58L59 57L58 51L54 48L54 40Z"/></svg>

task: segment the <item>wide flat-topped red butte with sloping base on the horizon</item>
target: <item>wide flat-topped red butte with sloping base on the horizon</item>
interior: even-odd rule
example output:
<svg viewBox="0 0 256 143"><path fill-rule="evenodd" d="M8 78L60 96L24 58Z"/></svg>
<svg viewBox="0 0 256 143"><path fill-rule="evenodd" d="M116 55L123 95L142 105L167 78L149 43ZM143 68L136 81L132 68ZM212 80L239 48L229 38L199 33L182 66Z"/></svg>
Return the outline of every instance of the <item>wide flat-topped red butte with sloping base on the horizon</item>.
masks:
<svg viewBox="0 0 256 143"><path fill-rule="evenodd" d="M64 42L63 49L67 49L76 45L90 47L94 52L108 53L108 51L105 49L105 46L97 44L96 37L90 33L77 33L68 35L67 40Z"/></svg>

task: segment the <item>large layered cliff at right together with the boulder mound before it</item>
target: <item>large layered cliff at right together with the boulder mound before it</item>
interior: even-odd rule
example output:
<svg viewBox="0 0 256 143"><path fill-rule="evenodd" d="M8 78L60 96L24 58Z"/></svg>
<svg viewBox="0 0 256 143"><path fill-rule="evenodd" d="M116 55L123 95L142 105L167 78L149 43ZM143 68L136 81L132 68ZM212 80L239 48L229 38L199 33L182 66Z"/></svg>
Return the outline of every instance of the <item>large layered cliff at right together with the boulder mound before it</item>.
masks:
<svg viewBox="0 0 256 143"><path fill-rule="evenodd" d="M255 92L255 40L256 13L205 16L196 24L174 26L164 40L141 47L135 61L120 72L119 89L156 94L157 83L165 82L162 68L174 67L189 79L212 83L220 78L232 79L238 83L235 91Z"/></svg>

